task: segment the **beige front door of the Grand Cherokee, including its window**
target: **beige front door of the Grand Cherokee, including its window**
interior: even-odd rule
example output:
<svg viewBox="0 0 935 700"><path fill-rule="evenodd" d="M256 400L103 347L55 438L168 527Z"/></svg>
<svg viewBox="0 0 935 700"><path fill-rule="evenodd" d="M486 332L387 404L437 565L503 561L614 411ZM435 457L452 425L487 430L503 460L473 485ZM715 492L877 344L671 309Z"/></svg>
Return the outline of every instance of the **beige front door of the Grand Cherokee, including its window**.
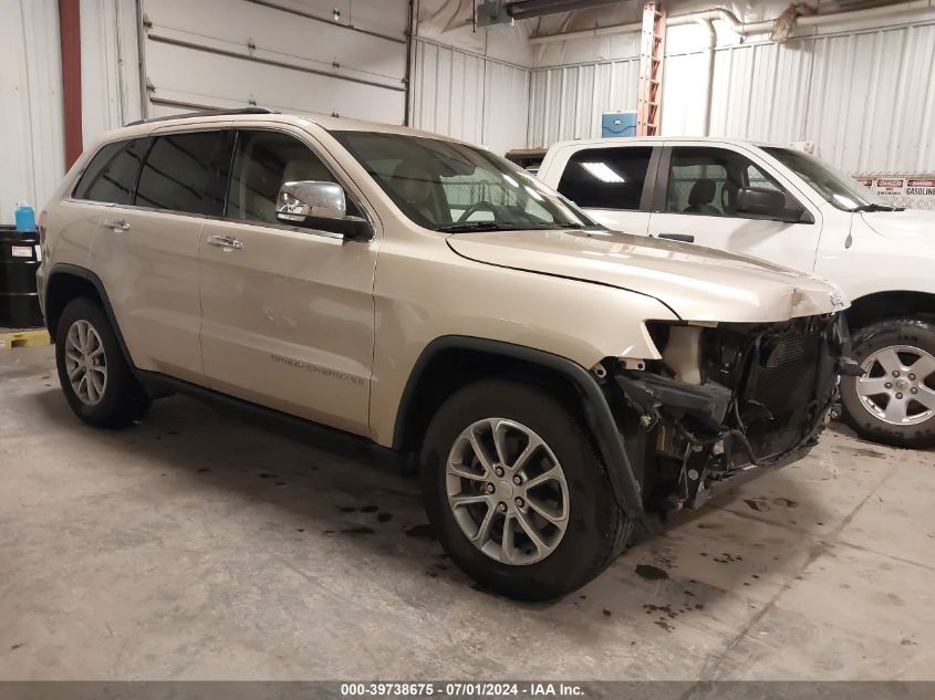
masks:
<svg viewBox="0 0 935 700"><path fill-rule="evenodd" d="M280 223L279 189L295 180L337 181L300 135L238 132L226 215L201 234L205 372L225 394L364 435L378 234Z"/></svg>

